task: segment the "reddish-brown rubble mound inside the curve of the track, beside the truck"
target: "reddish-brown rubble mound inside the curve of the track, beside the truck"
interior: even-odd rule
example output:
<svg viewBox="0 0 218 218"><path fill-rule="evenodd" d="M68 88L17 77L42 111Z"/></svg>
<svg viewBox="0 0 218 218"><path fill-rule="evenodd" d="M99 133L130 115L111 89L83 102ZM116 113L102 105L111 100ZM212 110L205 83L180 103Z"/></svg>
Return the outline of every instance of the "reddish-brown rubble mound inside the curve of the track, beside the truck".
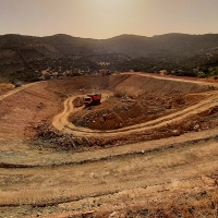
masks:
<svg viewBox="0 0 218 218"><path fill-rule="evenodd" d="M69 120L76 126L116 130L161 118L187 108L203 98L201 94L126 96L116 93L99 106L80 105L83 109L71 114Z"/></svg>

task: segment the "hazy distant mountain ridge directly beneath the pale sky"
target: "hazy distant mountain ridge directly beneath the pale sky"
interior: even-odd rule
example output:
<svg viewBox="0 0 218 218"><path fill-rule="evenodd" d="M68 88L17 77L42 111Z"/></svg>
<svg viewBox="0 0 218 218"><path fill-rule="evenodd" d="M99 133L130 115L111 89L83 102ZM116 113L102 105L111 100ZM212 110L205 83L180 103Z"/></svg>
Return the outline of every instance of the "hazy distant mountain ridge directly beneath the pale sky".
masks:
<svg viewBox="0 0 218 218"><path fill-rule="evenodd" d="M120 35L109 39L89 39L58 34L46 37L3 35L2 49L35 49L45 57L71 55L123 53L132 58L193 56L218 51L218 34L166 34L153 37Z"/></svg>

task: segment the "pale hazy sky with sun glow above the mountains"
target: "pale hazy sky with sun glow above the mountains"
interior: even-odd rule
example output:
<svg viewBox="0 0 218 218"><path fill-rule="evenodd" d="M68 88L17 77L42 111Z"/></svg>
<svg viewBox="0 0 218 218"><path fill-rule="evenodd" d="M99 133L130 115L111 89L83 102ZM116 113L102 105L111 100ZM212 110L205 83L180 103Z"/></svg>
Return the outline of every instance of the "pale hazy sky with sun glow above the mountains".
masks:
<svg viewBox="0 0 218 218"><path fill-rule="evenodd" d="M0 0L0 35L218 33L218 0Z"/></svg>

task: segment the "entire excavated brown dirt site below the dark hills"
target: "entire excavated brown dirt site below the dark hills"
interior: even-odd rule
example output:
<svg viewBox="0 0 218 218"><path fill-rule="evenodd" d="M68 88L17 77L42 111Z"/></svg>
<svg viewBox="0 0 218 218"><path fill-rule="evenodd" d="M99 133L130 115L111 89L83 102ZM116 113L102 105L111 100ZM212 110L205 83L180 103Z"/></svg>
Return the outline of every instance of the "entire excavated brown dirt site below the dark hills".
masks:
<svg viewBox="0 0 218 218"><path fill-rule="evenodd" d="M0 217L218 216L216 80L0 85Z"/></svg>

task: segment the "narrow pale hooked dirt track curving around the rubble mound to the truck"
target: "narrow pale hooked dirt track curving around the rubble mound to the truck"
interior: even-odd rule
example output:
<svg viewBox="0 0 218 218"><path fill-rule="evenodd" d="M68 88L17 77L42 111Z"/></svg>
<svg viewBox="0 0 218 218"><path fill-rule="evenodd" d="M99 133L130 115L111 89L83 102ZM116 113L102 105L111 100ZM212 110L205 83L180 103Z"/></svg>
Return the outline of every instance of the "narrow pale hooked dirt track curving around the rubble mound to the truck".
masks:
<svg viewBox="0 0 218 218"><path fill-rule="evenodd" d="M106 95L102 93L102 95ZM218 92L213 90L204 94L205 99L198 104L195 104L189 108L185 108L181 111L171 113L169 116L161 117L159 119L148 121L146 123L141 123L132 126L122 128L119 130L110 130L110 131L99 131L99 130L90 130L87 128L78 128L73 123L69 122L68 118L70 114L82 110L83 108L74 108L71 104L75 97L68 98L64 101L64 110L57 117L55 117L52 124L56 129L62 131L63 133L74 134L75 136L119 136L119 135L128 135L132 133L138 133L146 130L157 129L166 126L167 124L182 121L187 117L192 117L209 108L218 106ZM76 96L78 97L78 96Z"/></svg>

